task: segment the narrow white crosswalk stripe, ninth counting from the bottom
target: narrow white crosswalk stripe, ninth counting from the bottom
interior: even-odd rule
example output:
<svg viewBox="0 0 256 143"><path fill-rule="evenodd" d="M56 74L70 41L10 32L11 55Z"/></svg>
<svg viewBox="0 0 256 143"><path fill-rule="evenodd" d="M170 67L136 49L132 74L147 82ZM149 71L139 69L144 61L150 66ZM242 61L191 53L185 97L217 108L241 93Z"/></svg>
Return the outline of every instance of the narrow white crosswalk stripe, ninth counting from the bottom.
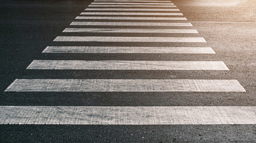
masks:
<svg viewBox="0 0 256 143"><path fill-rule="evenodd" d="M81 15L179 15L182 13L104 13L104 12L83 12Z"/></svg>

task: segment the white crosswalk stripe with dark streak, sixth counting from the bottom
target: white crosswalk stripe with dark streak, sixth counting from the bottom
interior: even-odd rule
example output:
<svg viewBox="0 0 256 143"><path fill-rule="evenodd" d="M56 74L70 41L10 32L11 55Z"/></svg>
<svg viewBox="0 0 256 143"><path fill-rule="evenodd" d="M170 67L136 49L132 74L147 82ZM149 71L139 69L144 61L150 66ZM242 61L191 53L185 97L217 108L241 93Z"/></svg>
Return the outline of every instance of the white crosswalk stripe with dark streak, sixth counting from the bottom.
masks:
<svg viewBox="0 0 256 143"><path fill-rule="evenodd" d="M92 33L198 33L195 29L95 29L95 28L66 28L63 32L92 32Z"/></svg>

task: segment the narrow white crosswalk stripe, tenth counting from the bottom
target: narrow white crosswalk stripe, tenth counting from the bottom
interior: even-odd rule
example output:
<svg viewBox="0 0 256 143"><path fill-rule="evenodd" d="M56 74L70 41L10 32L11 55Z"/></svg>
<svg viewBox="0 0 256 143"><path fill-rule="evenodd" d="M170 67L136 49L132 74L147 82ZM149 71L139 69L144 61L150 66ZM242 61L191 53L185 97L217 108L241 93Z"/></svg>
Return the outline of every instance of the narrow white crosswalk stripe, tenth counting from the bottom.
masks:
<svg viewBox="0 0 256 143"><path fill-rule="evenodd" d="M85 11L179 11L179 9L155 9L155 8L86 8Z"/></svg>

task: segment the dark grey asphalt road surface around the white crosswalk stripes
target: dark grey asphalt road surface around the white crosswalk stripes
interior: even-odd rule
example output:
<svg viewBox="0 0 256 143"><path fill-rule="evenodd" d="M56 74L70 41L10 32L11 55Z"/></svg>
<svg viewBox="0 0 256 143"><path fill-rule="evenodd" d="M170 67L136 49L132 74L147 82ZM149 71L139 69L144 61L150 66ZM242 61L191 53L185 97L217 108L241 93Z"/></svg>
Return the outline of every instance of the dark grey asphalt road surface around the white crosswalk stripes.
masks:
<svg viewBox="0 0 256 143"><path fill-rule="evenodd" d="M234 2L236 0L229 0ZM239 0L237 0L239 1ZM1 1L0 105L255 106L254 0L237 5L173 0L212 54L42 54L46 46L193 46L191 43L53 42L92 1ZM230 3L232 4L232 3ZM98 21L98 20L91 20ZM111 20L110 20L111 21ZM118 21L118 20L116 20ZM86 27L86 26L80 26ZM87 26L89 27L89 26ZM90 26L107 28L108 26ZM131 26L117 26L127 27ZM150 26L154 28L153 26ZM132 27L134 28L134 27ZM159 28L159 27L158 27ZM160 27L166 29L168 27ZM181 27L171 27L181 29ZM154 33L152 36L184 36ZM26 70L33 60L224 61L230 71ZM246 92L4 92L15 79L236 79ZM0 125L0 142L256 142L256 125Z"/></svg>

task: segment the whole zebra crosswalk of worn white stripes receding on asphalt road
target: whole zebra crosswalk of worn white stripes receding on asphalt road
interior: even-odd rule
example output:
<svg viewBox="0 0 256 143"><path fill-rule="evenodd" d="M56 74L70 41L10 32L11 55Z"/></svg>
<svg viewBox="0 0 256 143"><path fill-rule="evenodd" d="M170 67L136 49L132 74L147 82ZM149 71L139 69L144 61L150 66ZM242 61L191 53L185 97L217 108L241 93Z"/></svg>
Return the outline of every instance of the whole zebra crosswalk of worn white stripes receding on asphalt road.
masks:
<svg viewBox="0 0 256 143"><path fill-rule="evenodd" d="M95 0L44 54L216 54L171 1ZM95 7L95 8L92 8ZM84 27L86 26L86 27ZM87 27L94 26L94 28ZM97 26L100 26L100 28ZM105 27L101 27L105 26ZM107 26L107 27L106 27ZM122 28L116 26L132 26ZM150 26L154 26L153 28ZM96 28L95 28L96 27ZM141 27L141 28L140 28ZM159 28L156 28L159 27ZM162 29L165 27L165 29ZM173 27L173 28L172 28ZM174 28L176 27L176 28ZM177 28L179 27L179 28ZM85 36L96 33L98 36ZM104 35L105 33L105 35ZM111 33L113 35L107 35ZM127 36L118 36L126 33ZM147 36L132 36L131 33ZM151 34L159 34L154 36ZM102 34L102 35L101 35ZM161 36L161 34L176 36ZM100 35L100 36L99 36ZM97 43L89 46L87 43ZM73 46L64 45L72 43ZM78 44L79 43L79 44ZM82 43L82 45L81 45ZM112 46L104 43L112 43ZM118 44L116 44L118 43ZM147 46L127 46L143 43ZM151 43L167 43L152 46ZM177 43L179 46L173 46ZM200 43L200 46L184 46ZM76 45L77 44L77 45ZM223 61L34 60L28 70L227 71ZM16 79L5 92L246 92L236 79ZM242 106L0 106L0 124L228 125L256 124Z"/></svg>

